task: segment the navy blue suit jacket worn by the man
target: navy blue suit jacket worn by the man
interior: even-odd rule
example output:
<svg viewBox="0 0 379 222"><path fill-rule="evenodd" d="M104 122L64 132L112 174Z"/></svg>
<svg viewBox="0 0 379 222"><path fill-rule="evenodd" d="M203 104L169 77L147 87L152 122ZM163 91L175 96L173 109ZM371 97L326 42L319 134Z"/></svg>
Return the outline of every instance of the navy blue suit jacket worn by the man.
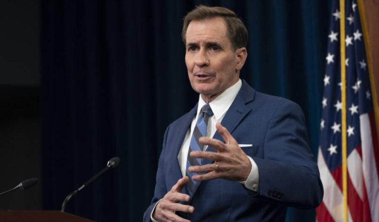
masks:
<svg viewBox="0 0 379 222"><path fill-rule="evenodd" d="M144 222L150 221L156 202L183 177L178 152L196 111L197 105L166 129L154 197ZM191 200L184 203L195 211L177 212L179 216L191 222L280 222L285 220L288 206L314 208L321 203L323 187L297 104L257 92L243 81L222 125L238 144L253 145L242 149L258 166L259 189L254 192L224 179L201 182ZM224 142L217 132L214 138ZM216 150L208 147L207 151ZM183 193L188 193L186 187Z"/></svg>

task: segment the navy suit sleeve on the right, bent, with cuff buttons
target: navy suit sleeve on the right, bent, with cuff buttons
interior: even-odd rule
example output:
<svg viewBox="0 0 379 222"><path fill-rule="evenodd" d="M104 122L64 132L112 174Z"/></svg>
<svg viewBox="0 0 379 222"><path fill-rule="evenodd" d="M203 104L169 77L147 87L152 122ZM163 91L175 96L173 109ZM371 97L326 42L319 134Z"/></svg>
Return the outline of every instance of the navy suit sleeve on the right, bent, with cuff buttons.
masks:
<svg viewBox="0 0 379 222"><path fill-rule="evenodd" d="M264 157L253 157L260 176L254 195L298 208L321 203L323 187L307 141L303 111L295 103L285 103L267 126Z"/></svg>

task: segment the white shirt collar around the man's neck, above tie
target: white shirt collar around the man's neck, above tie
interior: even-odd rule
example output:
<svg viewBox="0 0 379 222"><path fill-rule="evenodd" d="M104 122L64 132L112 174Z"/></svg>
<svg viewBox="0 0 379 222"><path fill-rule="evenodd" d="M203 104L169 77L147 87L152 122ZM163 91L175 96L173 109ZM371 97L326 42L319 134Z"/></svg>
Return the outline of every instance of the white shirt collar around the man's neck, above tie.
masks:
<svg viewBox="0 0 379 222"><path fill-rule="evenodd" d="M227 112L231 104L233 103L235 97L237 96L239 90L241 89L242 81L241 79L238 79L234 85L227 88L223 93L221 93L218 97L216 97L214 100L212 100L209 103L209 106L211 107L213 114L215 115L216 121L219 121L224 114ZM197 114L199 114L201 108L206 103L201 98L201 95L199 95L199 102L197 106Z"/></svg>

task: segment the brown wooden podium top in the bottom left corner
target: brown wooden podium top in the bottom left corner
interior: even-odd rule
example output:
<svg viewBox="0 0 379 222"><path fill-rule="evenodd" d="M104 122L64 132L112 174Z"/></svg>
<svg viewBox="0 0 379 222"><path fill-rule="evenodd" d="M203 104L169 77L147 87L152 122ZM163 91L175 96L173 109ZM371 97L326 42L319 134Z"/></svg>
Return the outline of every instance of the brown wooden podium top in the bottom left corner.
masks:
<svg viewBox="0 0 379 222"><path fill-rule="evenodd" d="M0 211L1 222L94 222L60 211Z"/></svg>

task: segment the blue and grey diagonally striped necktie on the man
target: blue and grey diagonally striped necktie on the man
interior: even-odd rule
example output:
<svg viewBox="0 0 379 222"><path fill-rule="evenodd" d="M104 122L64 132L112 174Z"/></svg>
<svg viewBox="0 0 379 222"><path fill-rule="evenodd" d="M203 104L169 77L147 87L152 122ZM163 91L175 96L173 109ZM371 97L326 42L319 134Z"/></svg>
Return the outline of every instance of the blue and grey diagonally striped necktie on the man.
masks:
<svg viewBox="0 0 379 222"><path fill-rule="evenodd" d="M192 176L196 175L197 173L190 173L188 171L189 166L197 166L201 164L201 158L192 158L189 156L189 153L191 151L203 151L204 145L199 143L200 137L205 137L207 135L207 125L208 125L208 119L210 116L213 115L213 111L209 104L205 104L200 111L199 117L196 122L196 126L193 130L191 141L189 143L189 150L188 150L188 156L187 156L187 168L186 168L186 175L189 177L189 184L188 189L190 195L194 193L197 186L200 184L198 181L192 181Z"/></svg>

